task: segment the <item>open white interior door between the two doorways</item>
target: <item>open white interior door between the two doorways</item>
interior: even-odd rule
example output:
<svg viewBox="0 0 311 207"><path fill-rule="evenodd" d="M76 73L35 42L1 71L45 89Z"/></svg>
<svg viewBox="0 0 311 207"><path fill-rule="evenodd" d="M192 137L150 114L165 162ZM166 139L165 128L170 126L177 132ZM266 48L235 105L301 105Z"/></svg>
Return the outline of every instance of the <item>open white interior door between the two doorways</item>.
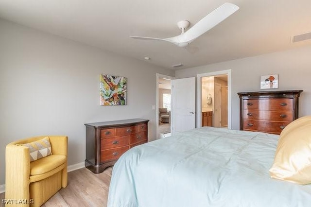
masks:
<svg viewBox="0 0 311 207"><path fill-rule="evenodd" d="M171 133L195 128L195 77L172 80Z"/></svg>

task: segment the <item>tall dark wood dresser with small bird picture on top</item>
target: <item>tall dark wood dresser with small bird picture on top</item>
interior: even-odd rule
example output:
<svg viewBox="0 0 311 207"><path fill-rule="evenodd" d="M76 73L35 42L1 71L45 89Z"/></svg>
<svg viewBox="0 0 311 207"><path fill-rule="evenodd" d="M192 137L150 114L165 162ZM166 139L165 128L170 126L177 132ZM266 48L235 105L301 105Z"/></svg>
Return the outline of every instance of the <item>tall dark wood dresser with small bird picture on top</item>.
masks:
<svg viewBox="0 0 311 207"><path fill-rule="evenodd" d="M303 90L238 93L240 130L280 134L298 119L298 98Z"/></svg>

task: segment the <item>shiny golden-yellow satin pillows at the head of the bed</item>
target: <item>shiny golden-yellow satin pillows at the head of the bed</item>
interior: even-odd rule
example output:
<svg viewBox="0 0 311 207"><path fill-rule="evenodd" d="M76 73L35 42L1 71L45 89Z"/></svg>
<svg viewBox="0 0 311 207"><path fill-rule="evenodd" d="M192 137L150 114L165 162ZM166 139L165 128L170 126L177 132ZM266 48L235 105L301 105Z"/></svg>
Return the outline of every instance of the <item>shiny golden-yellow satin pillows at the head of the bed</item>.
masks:
<svg viewBox="0 0 311 207"><path fill-rule="evenodd" d="M299 118L284 128L269 172L272 178L311 184L311 116Z"/></svg>

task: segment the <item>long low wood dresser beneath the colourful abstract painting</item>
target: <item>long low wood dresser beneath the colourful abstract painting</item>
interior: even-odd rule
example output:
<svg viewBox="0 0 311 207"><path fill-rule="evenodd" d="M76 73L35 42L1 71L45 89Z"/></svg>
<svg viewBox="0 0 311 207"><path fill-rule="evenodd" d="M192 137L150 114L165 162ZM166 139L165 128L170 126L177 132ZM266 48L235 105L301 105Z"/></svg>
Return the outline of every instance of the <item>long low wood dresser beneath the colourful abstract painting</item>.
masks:
<svg viewBox="0 0 311 207"><path fill-rule="evenodd" d="M86 123L86 168L93 173L102 173L128 149L148 142L148 121Z"/></svg>

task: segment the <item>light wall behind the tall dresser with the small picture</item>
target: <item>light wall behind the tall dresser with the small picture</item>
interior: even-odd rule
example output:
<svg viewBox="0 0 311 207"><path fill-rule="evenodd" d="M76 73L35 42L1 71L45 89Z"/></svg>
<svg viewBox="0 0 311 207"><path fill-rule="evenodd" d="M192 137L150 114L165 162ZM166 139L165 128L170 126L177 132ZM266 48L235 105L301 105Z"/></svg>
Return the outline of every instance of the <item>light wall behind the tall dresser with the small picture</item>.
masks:
<svg viewBox="0 0 311 207"><path fill-rule="evenodd" d="M299 116L311 115L311 46L175 71L176 78L232 69L232 129L239 129L238 92L260 91L260 76L278 74L275 90L303 89Z"/></svg>

